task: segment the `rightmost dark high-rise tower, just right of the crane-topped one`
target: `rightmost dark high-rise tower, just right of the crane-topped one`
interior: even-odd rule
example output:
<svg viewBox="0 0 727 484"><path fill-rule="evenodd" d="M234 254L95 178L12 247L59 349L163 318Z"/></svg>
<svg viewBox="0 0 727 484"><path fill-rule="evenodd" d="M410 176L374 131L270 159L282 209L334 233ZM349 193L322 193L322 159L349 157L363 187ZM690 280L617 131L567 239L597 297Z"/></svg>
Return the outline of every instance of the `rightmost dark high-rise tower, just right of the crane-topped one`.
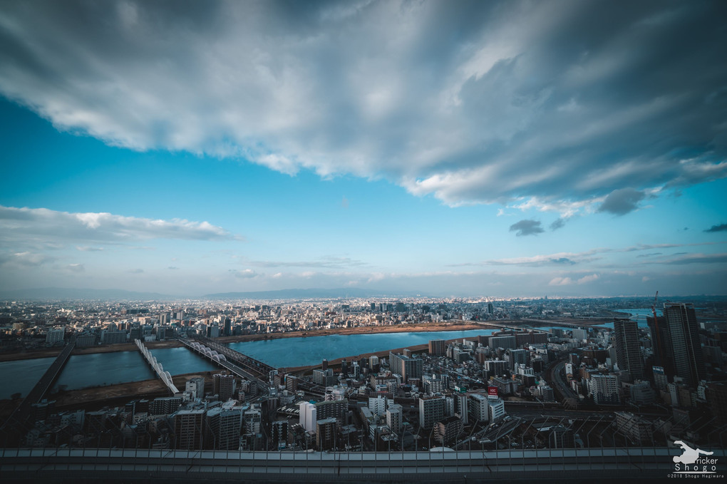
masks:
<svg viewBox="0 0 727 484"><path fill-rule="evenodd" d="M677 376L691 387L706 377L702 346L696 324L694 304L683 302L664 303L664 318L669 326L672 354Z"/></svg>

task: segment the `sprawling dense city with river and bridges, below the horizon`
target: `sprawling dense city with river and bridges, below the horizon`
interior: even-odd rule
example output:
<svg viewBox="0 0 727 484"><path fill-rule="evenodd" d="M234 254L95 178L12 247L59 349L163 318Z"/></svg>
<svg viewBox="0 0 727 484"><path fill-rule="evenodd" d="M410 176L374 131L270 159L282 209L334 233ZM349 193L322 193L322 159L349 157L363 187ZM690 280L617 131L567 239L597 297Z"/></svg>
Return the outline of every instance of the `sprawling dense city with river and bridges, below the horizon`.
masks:
<svg viewBox="0 0 727 484"><path fill-rule="evenodd" d="M28 383L38 380L27 394L0 400L4 447L511 452L680 441L723 448L726 314L725 298L695 306L659 303L658 294L5 302L0 368L31 359L47 370L27 374ZM398 334L387 331L426 342L341 357L347 347L316 341ZM441 338L452 331L467 336ZM328 358L304 366L293 355L282 368L251 346L278 342L286 351L295 340L323 347ZM185 368L195 371L179 374L169 348L184 352ZM155 379L129 384L137 377L113 366L126 372L119 384L64 380L69 360L126 353L135 357L132 371ZM94 361L103 372L103 361ZM53 387L49 378L71 383ZM16 379L7 390L16 390Z"/></svg>

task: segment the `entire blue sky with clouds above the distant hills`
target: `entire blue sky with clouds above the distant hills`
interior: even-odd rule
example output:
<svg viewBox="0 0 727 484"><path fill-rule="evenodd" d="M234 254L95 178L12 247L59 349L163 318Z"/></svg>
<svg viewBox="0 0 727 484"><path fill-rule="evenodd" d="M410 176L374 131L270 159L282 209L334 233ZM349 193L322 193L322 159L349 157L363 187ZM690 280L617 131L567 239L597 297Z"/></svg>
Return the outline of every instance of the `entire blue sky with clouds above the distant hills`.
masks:
<svg viewBox="0 0 727 484"><path fill-rule="evenodd" d="M0 291L727 294L723 1L0 1Z"/></svg>

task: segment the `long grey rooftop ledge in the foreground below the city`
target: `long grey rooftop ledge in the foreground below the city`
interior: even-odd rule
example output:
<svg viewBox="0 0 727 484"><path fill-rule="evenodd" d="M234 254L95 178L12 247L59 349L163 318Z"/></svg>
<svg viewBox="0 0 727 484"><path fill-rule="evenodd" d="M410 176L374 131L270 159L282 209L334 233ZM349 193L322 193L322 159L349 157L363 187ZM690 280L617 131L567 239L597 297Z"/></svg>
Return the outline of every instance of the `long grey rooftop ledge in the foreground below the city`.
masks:
<svg viewBox="0 0 727 484"><path fill-rule="evenodd" d="M710 458L725 473L725 449ZM6 483L162 482L661 482L681 449L566 448L430 452L241 452L97 448L0 449ZM601 479L601 480L599 480Z"/></svg>

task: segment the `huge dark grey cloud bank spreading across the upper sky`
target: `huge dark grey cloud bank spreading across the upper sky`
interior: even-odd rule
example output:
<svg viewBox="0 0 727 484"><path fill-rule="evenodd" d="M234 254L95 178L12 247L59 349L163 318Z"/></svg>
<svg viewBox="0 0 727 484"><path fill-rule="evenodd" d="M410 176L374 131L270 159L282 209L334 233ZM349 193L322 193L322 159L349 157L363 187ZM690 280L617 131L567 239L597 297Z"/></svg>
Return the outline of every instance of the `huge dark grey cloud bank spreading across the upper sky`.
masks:
<svg viewBox="0 0 727 484"><path fill-rule="evenodd" d="M451 205L578 211L610 193L601 209L625 214L624 187L726 176L726 16L721 1L3 2L0 92L135 150L383 176Z"/></svg>

